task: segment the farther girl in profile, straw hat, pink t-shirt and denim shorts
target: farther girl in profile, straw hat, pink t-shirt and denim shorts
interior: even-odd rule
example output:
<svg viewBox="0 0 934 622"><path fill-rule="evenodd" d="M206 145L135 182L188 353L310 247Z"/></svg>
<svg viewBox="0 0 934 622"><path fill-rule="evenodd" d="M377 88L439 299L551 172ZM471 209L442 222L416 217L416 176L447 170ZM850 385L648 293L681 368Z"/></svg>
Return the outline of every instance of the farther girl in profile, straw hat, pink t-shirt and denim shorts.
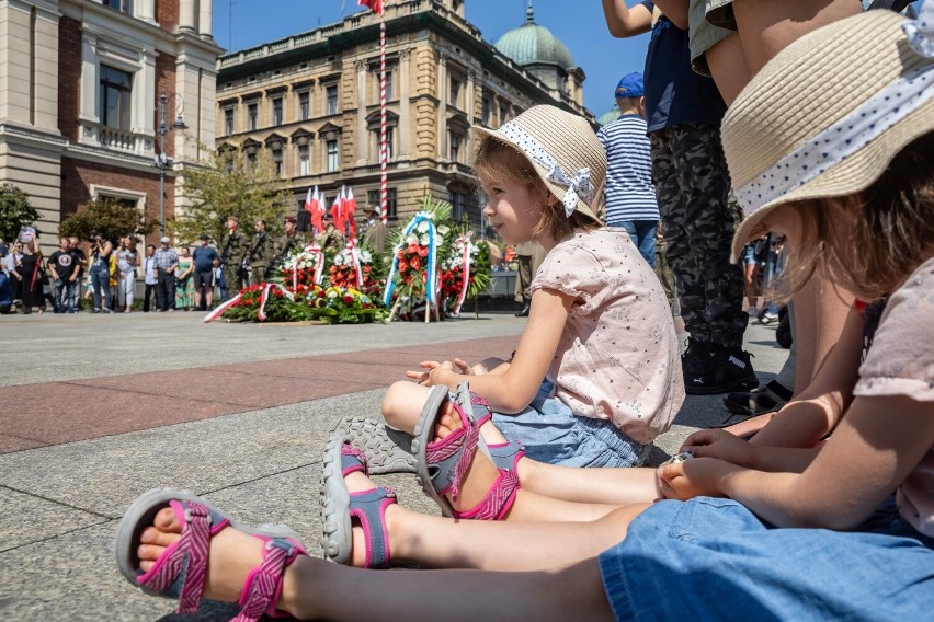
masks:
<svg viewBox="0 0 934 622"><path fill-rule="evenodd" d="M500 431L538 461L641 464L683 402L683 380L658 278L626 230L596 217L603 147L585 119L554 106L474 131L483 215L505 243L536 240L547 251L529 288L528 325L509 362L423 362L426 371L409 373L421 385L389 388L386 421L411 433L420 411L432 421L449 412L447 390L469 379ZM429 395L429 387L441 389Z"/></svg>

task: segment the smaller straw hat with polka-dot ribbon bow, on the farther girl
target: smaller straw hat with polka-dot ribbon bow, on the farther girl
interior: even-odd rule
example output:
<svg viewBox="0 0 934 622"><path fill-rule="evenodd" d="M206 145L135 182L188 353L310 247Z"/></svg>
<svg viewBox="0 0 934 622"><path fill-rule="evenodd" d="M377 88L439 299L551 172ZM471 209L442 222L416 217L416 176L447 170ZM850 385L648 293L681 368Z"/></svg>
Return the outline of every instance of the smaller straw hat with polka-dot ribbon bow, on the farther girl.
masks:
<svg viewBox="0 0 934 622"><path fill-rule="evenodd" d="M475 125L474 131L524 154L568 216L580 211L600 222L596 206L606 153L586 119L555 106L533 106L499 129Z"/></svg>

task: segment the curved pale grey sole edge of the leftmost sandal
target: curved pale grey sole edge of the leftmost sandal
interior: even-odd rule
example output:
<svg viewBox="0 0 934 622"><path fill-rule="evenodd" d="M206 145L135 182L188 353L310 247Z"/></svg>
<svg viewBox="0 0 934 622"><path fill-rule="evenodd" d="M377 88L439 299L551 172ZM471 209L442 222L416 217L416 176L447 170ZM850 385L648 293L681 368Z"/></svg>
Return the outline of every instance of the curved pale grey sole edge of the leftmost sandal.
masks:
<svg viewBox="0 0 934 622"><path fill-rule="evenodd" d="M191 500L204 504L210 511L226 516L226 514L197 496L191 491L181 491L176 488L151 488L134 500L121 518L117 526L116 538L114 542L114 554L116 556L117 567L123 576L135 587L140 588L144 592L151 596L160 596L164 598L175 598L171 595L162 595L141 587L136 580L139 576L139 557L136 554L139 545L139 538L143 531L152 525L156 515L162 508L169 507L171 500ZM229 519L228 519L229 520ZM296 542L301 539L292 529L283 525L261 525L258 528L251 528L230 520L230 527L249 533L250 535L265 535L269 538L291 538Z"/></svg>

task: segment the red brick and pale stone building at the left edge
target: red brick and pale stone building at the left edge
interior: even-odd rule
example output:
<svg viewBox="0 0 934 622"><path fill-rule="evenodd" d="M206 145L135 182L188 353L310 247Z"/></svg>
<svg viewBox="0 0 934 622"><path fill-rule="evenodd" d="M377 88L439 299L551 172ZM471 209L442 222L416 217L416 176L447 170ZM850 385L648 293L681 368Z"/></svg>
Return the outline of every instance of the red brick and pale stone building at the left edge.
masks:
<svg viewBox="0 0 934 622"><path fill-rule="evenodd" d="M159 218L157 162L172 216L176 177L214 143L212 1L0 2L0 182L30 195L46 249L61 219L94 198Z"/></svg>

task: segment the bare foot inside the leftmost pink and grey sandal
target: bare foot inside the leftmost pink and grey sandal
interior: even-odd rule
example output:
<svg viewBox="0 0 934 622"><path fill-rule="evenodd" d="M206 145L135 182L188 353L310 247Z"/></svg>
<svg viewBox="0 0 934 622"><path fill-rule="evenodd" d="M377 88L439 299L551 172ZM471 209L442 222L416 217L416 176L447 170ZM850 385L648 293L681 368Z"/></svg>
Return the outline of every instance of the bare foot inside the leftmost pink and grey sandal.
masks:
<svg viewBox="0 0 934 622"><path fill-rule="evenodd" d="M175 512L168 507L161 509L156 515L152 526L147 527L140 535L137 548L140 569L148 572L166 549L181 539L181 533L182 528ZM232 527L227 527L213 535L208 549L209 563L204 581L204 598L237 602L247 575L262 561L263 545L262 540ZM298 558L286 568L282 596L276 603L277 609L291 610L289 595L296 594L292 571L301 561Z"/></svg>

